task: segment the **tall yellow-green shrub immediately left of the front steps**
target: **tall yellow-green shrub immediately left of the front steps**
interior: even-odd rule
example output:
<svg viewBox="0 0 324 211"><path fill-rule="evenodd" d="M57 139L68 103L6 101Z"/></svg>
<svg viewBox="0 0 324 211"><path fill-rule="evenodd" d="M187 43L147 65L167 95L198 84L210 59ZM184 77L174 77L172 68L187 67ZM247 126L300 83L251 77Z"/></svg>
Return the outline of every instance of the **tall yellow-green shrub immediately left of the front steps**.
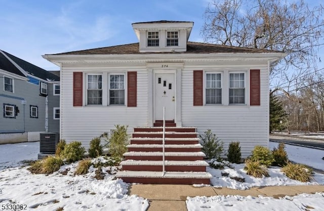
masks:
<svg viewBox="0 0 324 211"><path fill-rule="evenodd" d="M108 141L108 152L112 157L121 158L127 152L130 136L127 134L128 126L117 124L115 128Z"/></svg>

